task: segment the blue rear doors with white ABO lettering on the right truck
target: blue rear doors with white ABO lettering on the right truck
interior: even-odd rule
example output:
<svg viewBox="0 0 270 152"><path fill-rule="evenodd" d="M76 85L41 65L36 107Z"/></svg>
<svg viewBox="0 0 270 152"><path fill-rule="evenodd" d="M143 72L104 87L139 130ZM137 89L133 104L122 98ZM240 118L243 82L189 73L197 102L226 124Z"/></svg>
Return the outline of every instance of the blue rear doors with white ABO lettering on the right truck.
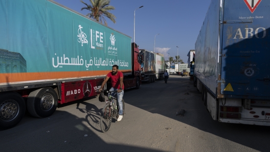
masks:
<svg viewBox="0 0 270 152"><path fill-rule="evenodd" d="M221 94L270 96L268 6L270 1L223 1Z"/></svg>

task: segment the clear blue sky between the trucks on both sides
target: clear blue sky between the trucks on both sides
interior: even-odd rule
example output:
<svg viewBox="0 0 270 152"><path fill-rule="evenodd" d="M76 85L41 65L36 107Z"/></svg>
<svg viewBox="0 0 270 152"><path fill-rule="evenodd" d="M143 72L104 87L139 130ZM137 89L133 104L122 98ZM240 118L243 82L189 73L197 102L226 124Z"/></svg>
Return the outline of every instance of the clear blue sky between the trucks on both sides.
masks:
<svg viewBox="0 0 270 152"><path fill-rule="evenodd" d="M80 0L54 0L83 15L85 7ZM91 4L89 0L83 0ZM110 0L115 10L109 11L116 16L116 23L105 18L108 27L132 38L140 49L146 49L164 55L175 56L187 63L188 52L195 49L195 42L204 22L211 0ZM156 35L159 34L159 35ZM178 51L177 47L178 46Z"/></svg>

